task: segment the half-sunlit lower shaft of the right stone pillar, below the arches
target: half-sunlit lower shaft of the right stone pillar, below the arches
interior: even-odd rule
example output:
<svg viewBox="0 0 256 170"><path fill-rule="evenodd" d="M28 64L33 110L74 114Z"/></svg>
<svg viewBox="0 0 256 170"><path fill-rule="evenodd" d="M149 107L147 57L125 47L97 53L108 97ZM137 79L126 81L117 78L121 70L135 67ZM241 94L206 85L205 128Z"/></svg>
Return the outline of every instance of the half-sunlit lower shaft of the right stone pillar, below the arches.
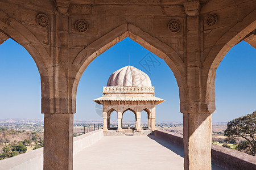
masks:
<svg viewBox="0 0 256 170"><path fill-rule="evenodd" d="M183 114L184 169L211 169L212 114Z"/></svg>

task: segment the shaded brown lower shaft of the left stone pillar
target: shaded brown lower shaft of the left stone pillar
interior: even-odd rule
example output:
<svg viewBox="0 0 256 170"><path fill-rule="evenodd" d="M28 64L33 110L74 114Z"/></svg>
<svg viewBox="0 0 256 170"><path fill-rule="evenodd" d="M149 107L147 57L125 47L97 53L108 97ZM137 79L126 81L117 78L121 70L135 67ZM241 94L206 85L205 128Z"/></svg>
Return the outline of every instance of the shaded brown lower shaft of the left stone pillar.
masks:
<svg viewBox="0 0 256 170"><path fill-rule="evenodd" d="M73 169L73 114L44 114L44 169Z"/></svg>

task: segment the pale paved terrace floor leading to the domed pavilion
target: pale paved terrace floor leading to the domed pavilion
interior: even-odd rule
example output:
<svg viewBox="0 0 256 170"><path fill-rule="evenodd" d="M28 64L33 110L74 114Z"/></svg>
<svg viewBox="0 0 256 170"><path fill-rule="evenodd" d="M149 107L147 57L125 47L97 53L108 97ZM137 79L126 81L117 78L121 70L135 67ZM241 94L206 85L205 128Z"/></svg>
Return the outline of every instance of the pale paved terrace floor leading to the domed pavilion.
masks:
<svg viewBox="0 0 256 170"><path fill-rule="evenodd" d="M73 158L73 169L184 169L183 148L155 136L106 136ZM222 169L212 165L212 169Z"/></svg>

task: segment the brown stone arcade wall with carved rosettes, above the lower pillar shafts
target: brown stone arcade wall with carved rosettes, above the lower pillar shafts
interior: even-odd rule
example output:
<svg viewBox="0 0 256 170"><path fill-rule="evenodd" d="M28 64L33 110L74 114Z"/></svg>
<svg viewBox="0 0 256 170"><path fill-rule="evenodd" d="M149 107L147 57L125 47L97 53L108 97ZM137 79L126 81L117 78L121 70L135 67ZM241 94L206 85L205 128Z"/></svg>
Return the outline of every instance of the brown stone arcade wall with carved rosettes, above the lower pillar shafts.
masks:
<svg viewBox="0 0 256 170"><path fill-rule="evenodd" d="M173 71L180 111L207 115L215 111L214 83L222 58L242 40L255 47L255 8L254 0L1 1L0 44L10 37L31 54L41 76L42 113L75 113L76 90L86 67L130 37ZM37 20L39 14L44 17ZM77 31L78 20L87 23L86 31ZM180 23L179 32L171 32L171 20ZM188 151L187 156L195 152Z"/></svg>

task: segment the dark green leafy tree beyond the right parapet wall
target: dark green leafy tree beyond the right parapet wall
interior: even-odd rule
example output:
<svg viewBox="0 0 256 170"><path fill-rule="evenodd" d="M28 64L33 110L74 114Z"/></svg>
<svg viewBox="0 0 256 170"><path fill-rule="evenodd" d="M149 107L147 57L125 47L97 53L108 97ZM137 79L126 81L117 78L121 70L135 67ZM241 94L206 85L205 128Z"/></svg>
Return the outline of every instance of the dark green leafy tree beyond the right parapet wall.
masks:
<svg viewBox="0 0 256 170"><path fill-rule="evenodd" d="M241 137L246 142L240 142L236 148L239 151L247 150L246 153L256 155L256 111L246 116L235 118L228 122L224 131L226 141L236 140Z"/></svg>

